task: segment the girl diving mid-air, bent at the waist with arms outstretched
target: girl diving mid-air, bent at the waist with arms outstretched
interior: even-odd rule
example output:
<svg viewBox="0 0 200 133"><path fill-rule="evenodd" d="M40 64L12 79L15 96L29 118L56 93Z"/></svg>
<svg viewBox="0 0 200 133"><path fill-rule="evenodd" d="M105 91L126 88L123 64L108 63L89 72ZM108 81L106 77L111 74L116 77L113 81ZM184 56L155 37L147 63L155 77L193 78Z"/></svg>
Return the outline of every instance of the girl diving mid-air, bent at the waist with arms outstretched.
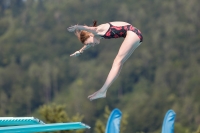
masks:
<svg viewBox="0 0 200 133"><path fill-rule="evenodd" d="M106 92L114 80L118 77L123 64L131 56L133 51L142 43L143 37L140 30L133 27L131 24L122 21L109 22L96 26L96 21L92 27L74 25L68 28L69 32L75 32L78 39L84 46L71 54L70 56L76 57L82 54L86 49L91 46L96 46L100 43L101 39L111 39L123 37L124 41L121 44L119 52L114 59L112 68L108 77L100 90L88 96L90 100L105 98Z"/></svg>

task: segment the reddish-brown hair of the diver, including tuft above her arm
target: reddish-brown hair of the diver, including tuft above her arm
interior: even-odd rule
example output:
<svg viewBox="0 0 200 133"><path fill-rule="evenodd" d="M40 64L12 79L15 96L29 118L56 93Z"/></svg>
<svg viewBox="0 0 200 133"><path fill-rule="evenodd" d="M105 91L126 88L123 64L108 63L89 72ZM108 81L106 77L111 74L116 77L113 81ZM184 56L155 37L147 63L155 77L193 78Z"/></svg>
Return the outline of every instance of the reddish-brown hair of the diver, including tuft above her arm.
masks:
<svg viewBox="0 0 200 133"><path fill-rule="evenodd" d="M96 27L97 26L97 21L93 21L93 26ZM78 37L79 41L81 41L81 43L85 43L85 41L90 37L90 32L84 31L84 30L76 30L75 31L75 35Z"/></svg>

